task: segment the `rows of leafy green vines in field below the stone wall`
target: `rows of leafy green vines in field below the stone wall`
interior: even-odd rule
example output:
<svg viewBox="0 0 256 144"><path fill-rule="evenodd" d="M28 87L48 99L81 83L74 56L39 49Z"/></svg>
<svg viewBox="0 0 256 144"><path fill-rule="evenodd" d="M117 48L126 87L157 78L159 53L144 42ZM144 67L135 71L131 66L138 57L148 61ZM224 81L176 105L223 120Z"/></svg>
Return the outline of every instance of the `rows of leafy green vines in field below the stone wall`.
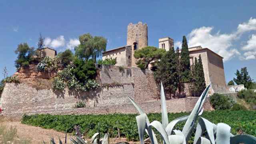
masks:
<svg viewBox="0 0 256 144"><path fill-rule="evenodd" d="M180 116L188 115L187 112L169 113L169 120L174 120ZM76 125L81 126L82 132L91 137L95 132L102 134L109 133L110 137L115 138L120 129L121 136L128 140L139 140L136 123L137 114L104 114L104 115L50 115L39 114L32 116L23 116L22 124L40 126L42 128L51 128L65 132L73 132ZM212 112L205 111L203 118L210 120L212 123L223 122L232 127L232 134L237 134L242 130L245 134L256 136L256 111L248 110L215 110ZM148 114L150 122L153 120L161 121L161 114ZM178 123L174 129L182 130L184 122ZM146 136L146 134L145 134Z"/></svg>

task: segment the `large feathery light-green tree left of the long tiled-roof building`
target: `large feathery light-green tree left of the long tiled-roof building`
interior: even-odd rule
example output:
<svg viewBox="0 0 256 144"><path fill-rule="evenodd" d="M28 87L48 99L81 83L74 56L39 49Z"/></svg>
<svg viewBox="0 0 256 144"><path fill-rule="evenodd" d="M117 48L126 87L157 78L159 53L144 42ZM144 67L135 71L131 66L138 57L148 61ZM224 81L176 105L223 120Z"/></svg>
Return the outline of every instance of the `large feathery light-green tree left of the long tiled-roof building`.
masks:
<svg viewBox="0 0 256 144"><path fill-rule="evenodd" d="M101 36L83 34L79 36L79 41L80 44L75 47L75 55L86 61L92 58L96 62L102 51L106 51L107 40Z"/></svg>

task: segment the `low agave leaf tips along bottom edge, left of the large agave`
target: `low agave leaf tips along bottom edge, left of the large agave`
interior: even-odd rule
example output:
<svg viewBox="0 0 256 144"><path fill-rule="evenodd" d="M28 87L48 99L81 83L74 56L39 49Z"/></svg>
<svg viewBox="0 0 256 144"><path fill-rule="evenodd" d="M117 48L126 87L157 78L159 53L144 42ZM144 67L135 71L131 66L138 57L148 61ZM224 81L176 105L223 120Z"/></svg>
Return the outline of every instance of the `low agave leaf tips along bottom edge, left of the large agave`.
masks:
<svg viewBox="0 0 256 144"><path fill-rule="evenodd" d="M97 137L99 137L99 133L98 132L96 132L92 136L90 142L88 142L87 140L83 140L79 136L76 136L76 140L73 139L73 138L70 138L70 140L71 140L71 142L73 144L89 144L89 143L93 143L93 144L108 144L108 134L105 134L103 138L97 138ZM45 144L44 141L43 141L43 144ZM54 141L54 138L51 138L50 144L56 144L56 142ZM67 134L65 136L65 142L64 143L59 138L59 144L67 144Z"/></svg>

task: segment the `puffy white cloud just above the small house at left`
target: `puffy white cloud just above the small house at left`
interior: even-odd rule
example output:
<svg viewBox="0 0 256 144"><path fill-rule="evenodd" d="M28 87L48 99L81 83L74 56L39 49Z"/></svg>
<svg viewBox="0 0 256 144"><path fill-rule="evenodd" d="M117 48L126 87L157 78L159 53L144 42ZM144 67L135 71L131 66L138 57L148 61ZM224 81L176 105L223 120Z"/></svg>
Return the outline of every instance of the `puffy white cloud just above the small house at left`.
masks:
<svg viewBox="0 0 256 144"><path fill-rule="evenodd" d="M58 36L56 39L45 38L44 45L51 48L59 48L65 46L64 36Z"/></svg>

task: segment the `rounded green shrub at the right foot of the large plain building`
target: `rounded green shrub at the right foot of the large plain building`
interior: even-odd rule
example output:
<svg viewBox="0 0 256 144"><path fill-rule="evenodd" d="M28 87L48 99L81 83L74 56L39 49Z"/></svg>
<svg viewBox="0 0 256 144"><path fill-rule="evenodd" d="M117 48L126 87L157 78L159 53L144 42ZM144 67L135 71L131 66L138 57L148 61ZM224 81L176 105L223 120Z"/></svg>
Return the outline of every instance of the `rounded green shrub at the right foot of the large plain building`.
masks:
<svg viewBox="0 0 256 144"><path fill-rule="evenodd" d="M232 108L234 101L230 96L214 93L210 97L210 103L216 110L226 110Z"/></svg>

